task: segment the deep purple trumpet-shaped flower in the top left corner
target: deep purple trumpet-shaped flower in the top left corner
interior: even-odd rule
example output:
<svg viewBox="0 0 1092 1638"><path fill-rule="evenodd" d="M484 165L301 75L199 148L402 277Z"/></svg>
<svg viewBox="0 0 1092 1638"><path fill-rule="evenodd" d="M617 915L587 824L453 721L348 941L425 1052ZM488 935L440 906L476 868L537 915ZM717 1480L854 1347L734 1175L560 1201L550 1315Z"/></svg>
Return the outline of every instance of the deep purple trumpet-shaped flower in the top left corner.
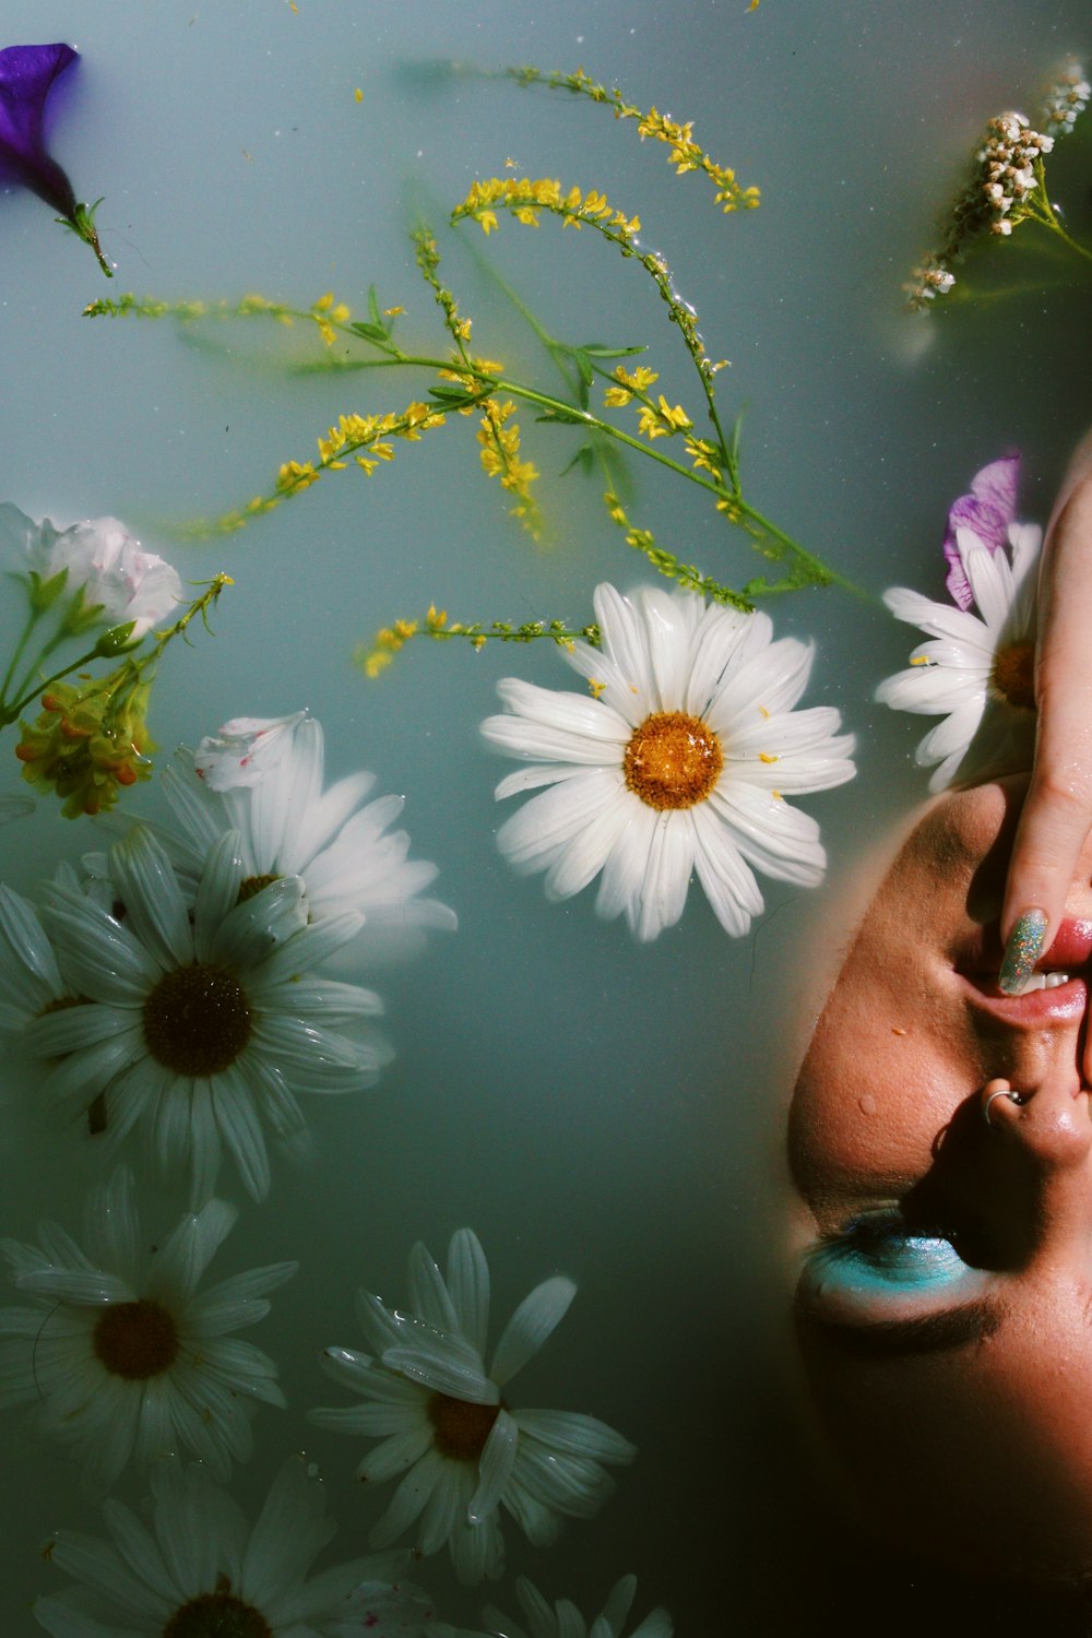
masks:
<svg viewBox="0 0 1092 1638"><path fill-rule="evenodd" d="M106 262L95 231L95 205L80 205L72 183L56 159L46 152L46 98L59 74L75 62L72 46L8 46L0 51L0 182L29 188L57 219L93 249L108 278ZM98 201L95 201L98 203Z"/></svg>

